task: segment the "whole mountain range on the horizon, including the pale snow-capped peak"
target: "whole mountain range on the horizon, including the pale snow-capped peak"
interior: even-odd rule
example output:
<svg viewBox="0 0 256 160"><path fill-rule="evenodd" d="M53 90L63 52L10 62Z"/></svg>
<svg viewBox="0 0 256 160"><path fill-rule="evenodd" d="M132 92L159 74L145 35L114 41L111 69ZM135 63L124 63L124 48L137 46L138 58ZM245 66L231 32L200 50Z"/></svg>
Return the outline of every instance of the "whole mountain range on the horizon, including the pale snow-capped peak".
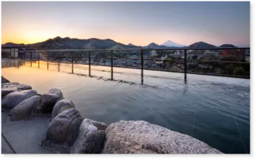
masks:
<svg viewBox="0 0 256 160"><path fill-rule="evenodd" d="M36 48L37 50L67 50L67 49L175 49L175 48L216 48L213 44L198 42L185 47L184 45L174 43L171 40L166 41L162 45L150 43L148 46L141 47L129 43L128 45L115 42L112 39L71 39L69 37L61 38L55 37L54 39L47 39L46 41L33 44L17 44L6 43L3 46L21 46L25 48ZM235 47L232 44L223 44L220 47Z"/></svg>

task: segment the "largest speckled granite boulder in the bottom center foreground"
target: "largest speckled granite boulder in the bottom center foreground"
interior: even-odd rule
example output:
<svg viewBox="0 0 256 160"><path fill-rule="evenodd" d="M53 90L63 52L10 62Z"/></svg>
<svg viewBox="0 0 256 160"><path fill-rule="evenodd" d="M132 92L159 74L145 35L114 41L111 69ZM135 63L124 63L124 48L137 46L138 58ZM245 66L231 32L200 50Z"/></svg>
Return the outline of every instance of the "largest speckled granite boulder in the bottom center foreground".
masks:
<svg viewBox="0 0 256 160"><path fill-rule="evenodd" d="M191 136L146 121L119 121L105 133L102 154L222 154Z"/></svg>

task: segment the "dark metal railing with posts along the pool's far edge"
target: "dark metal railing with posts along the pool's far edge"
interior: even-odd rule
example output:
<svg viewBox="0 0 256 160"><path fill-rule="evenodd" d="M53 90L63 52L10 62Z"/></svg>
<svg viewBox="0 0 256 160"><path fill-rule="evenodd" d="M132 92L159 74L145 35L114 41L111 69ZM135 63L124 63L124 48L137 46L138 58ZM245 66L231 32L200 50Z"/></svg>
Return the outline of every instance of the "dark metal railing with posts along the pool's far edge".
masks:
<svg viewBox="0 0 256 160"><path fill-rule="evenodd" d="M140 52L140 58L115 58L114 57L114 51L138 51L138 53ZM159 58L145 58L145 51L149 51L149 50L156 50L156 51L171 51L171 50L183 50L184 51L184 58L183 60L163 60L163 59L159 59ZM118 67L118 66L114 66L114 60L118 60L118 59L122 59L122 60L134 60L134 61L141 61L140 62L140 67L137 67L137 69L141 69L141 84L144 84L144 62L145 61L171 61L171 62L178 62L181 63L183 62L183 72L175 72L175 73L184 73L184 80L186 82L186 74L187 74L187 62L196 62L196 63L217 63L217 64L247 64L250 65L250 62L244 62L244 61L201 61L201 60L195 60L195 59L187 59L187 50L250 50L250 47L243 47L243 48L198 48L198 49L193 49L193 48L178 48L178 49L94 49L94 50L24 50L24 53L29 53L30 54L30 66L32 66L32 61L38 61L38 68L40 68L40 53L47 53L46 57L47 57L47 69L49 69L49 61L51 61L51 58L57 58L58 60L58 71L60 70L60 59L61 58L71 58L71 73L73 73L73 64L74 64L74 59L77 58L77 54L75 54L76 51L83 51L83 52L88 52L88 56L80 56L79 58L88 58L88 76L92 76L91 75L91 65L92 65L92 58L97 59L97 58L101 58L101 59L105 59L105 60L111 60L111 80L114 80L114 67ZM105 58L105 57L92 57L92 52L94 51L110 51L110 56L109 58ZM51 56L49 55L49 53L55 53L55 56ZM60 54L62 54L63 52L68 52L70 53L71 56L61 56ZM33 54L37 54L37 59L36 58L32 58ZM1 54L0 54L0 58L1 58ZM94 64L95 65L95 64ZM106 65L102 65L102 66L106 66ZM123 68L127 68L125 66L121 66ZM165 72L174 72L174 71L168 71L168 69L147 69L147 70L159 70L159 71L165 71ZM203 74L203 75L210 75L210 76L232 76L232 77L242 77L242 78L250 78L250 76L235 76L235 75L222 75L222 74L209 74L209 73L193 73L193 72L189 72L191 74Z"/></svg>

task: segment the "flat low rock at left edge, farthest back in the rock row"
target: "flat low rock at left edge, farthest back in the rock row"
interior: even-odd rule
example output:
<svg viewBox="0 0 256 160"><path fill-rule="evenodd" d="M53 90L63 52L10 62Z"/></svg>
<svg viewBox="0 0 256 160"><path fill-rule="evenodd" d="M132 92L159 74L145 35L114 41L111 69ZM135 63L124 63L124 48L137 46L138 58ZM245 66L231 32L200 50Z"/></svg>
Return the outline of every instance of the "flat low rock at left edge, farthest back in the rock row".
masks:
<svg viewBox="0 0 256 160"><path fill-rule="evenodd" d="M19 84L17 82L11 82L1 85L1 98L8 95L13 91L29 90L32 89L31 86L27 84Z"/></svg>

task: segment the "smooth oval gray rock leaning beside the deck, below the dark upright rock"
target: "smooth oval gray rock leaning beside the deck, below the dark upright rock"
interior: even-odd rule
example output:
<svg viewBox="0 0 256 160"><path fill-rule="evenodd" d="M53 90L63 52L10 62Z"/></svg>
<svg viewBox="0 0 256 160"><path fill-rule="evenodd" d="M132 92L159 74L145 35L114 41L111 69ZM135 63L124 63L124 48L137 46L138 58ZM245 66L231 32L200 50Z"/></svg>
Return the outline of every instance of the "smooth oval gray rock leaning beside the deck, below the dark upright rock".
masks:
<svg viewBox="0 0 256 160"><path fill-rule="evenodd" d="M36 109L38 102L40 101L39 95L34 95L24 101L20 102L9 113L10 121L21 121L28 119L32 116L32 112Z"/></svg>

